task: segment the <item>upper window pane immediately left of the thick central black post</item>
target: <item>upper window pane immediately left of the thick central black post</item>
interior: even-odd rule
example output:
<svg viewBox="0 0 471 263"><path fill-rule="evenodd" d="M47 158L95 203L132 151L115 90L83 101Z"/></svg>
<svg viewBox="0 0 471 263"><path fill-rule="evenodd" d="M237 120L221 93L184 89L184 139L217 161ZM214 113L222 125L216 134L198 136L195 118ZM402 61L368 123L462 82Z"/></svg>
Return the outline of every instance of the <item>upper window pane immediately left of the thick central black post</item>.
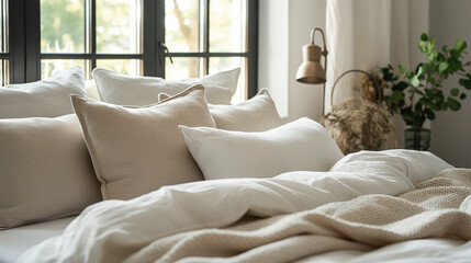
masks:
<svg viewBox="0 0 471 263"><path fill-rule="evenodd" d="M97 53L141 53L141 0L97 0Z"/></svg>

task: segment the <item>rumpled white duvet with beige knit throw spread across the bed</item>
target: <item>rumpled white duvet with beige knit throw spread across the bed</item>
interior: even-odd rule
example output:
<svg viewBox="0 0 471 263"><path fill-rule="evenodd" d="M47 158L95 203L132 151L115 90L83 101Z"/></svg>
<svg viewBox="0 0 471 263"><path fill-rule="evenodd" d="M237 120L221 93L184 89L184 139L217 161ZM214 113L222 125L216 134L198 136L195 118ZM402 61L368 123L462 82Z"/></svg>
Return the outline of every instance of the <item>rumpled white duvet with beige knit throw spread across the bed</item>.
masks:
<svg viewBox="0 0 471 263"><path fill-rule="evenodd" d="M423 159L423 163L417 162L417 155L419 159ZM385 167L382 163L381 175L374 175L378 172L378 170L374 171L375 164L365 167L365 163L361 163L369 161L379 164L385 159L392 160L391 162L395 164ZM406 176L396 171L396 168L404 163L402 172L405 172ZM427 163L436 164L424 171L424 165ZM414 167L420 168L414 169ZM467 262L471 253L471 242L467 241L470 238L469 209L471 207L469 207L470 198L466 196L471 191L471 172L466 169L447 169L441 174L431 175L445 167L447 165L440 163L436 157L426 155L424 158L420 152L392 151L382 152L381 156L377 152L360 152L343 159L333 168L333 171L327 173L290 172L273 179L215 180L168 186L132 201L108 201L87 208L69 225L64 236L46 240L34 247L23 255L20 262L31 260L35 262L175 262L177 260L182 260L181 262L211 262L212 260L227 262L288 262L293 260L296 262L345 262L347 260L351 262ZM355 168L358 171L355 171ZM365 169L370 170L371 173L360 172ZM349 171L345 172L345 170ZM422 181L427 178L430 179L425 180L426 183L411 186L412 181ZM429 192L424 194L423 192L427 188ZM460 194L458 188L463 193ZM395 202L397 197L391 196L396 196L402 192L404 194L399 195L400 197L419 203L423 207L427 207L426 211L414 210L410 215L401 213L399 216L393 216L395 213L403 211L404 204L388 206L389 198L394 198ZM436 194L436 192L440 192L440 194ZM420 194L414 199L411 197L414 193ZM450 198L450 194L456 196ZM461 197L457 197L459 195ZM215 196L218 197L216 202L209 201ZM324 203L326 205L323 205ZM374 206L369 206L370 203ZM367 205L367 207L356 207L359 204ZM381 204L383 206L378 207ZM348 210L348 207L351 206L356 208ZM459 209L445 208L446 206L458 206ZM313 207L317 208L310 209ZM348 228L341 229L330 225L326 227L323 226L319 218L314 218L307 221L317 224L321 228L334 228L336 231L332 233L324 229L318 232L319 230L314 229L312 230L314 233L307 235L306 229L310 227L304 226L305 217L307 215L332 215L330 209L337 209L336 213L340 214L346 210L344 216L351 213L358 215L356 209L368 209L370 214L368 217L355 220L367 220L381 228L381 225L383 227L385 225L371 219L374 217L371 214L379 209L379 215L395 217L389 224L408 220L406 225L415 222L416 226L407 229L402 225L404 231L400 231L401 238L393 237L386 241L379 238L358 242L358 237L368 237L367 239L371 237L368 232L359 233L359 236L349 233L350 237L343 237L343 233L349 231ZM115 210L121 211L114 214ZM300 213L295 213L298 210ZM391 214L391 210L394 214ZM411 210L411 207L406 210ZM459 210L464 214L458 213ZM423 213L430 213L430 215L422 215L420 220ZM434 218L431 215L434 213L441 214ZM300 220L300 217L304 217L304 219ZM416 218L413 219L414 217ZM449 221L446 219L447 217L449 217ZM424 222L424 218L434 219ZM56 231L54 235L59 235L60 227L65 227L71 218L59 220L63 221L58 221L55 227L49 225L49 229ZM288 225L276 226L279 220L284 220ZM349 220L352 219L349 218ZM40 229L43 231L48 228L47 224L51 222L3 231L0 240L4 240L3 235L8 237L9 231L10 233L16 232L14 235L21 233L22 230L29 235ZM293 225L301 225L304 228L290 232L296 228ZM267 228L263 238L260 238L263 236L261 233L263 231L256 230L261 227ZM361 226L355 227L360 228ZM270 228L272 229L270 230ZM390 228L389 230L394 232L397 229ZM283 233L285 231L290 233ZM40 232L32 237L40 235L44 233ZM271 240L271 238L273 239ZM329 242L328 238L333 238L333 242ZM93 240L92 244L91 240ZM240 248L247 240L260 243L250 244L249 247L254 245L253 249ZM345 243L338 242L339 240ZM370 244L366 245L368 242ZM32 243L30 242L30 244ZM85 245L88 243L90 245ZM319 245L319 243L324 245ZM125 248L128 249L127 252L133 251L133 253L120 253L120 251L126 250ZM160 258L152 258L160 254L162 254ZM287 254L292 258L283 258ZM181 255L186 256L177 259ZM229 258L231 255L234 258Z"/></svg>

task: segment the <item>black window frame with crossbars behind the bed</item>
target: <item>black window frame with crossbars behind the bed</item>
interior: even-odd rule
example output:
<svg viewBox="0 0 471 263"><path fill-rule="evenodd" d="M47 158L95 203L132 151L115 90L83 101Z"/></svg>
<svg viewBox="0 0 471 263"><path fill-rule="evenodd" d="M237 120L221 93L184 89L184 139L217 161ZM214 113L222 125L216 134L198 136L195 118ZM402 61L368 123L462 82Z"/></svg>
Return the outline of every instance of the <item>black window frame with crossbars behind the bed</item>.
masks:
<svg viewBox="0 0 471 263"><path fill-rule="evenodd" d="M209 9L211 0L205 1ZM89 59L91 69L97 59L142 59L143 75L165 77L165 60L171 57L245 57L247 58L247 98L257 93L258 68L258 0L247 0L247 52L212 53L208 48L194 53L166 53L165 43L165 0L143 0L143 53L142 54L97 54L96 50L96 0L91 0L91 50L85 54L42 54L40 0L9 0L9 53L0 53L0 59L10 61L10 83L24 83L41 79L41 59ZM205 10L209 20L209 10ZM210 26L205 21L205 26ZM206 32L208 28L206 28ZM209 35L204 36L205 42ZM209 64L203 73L206 75Z"/></svg>

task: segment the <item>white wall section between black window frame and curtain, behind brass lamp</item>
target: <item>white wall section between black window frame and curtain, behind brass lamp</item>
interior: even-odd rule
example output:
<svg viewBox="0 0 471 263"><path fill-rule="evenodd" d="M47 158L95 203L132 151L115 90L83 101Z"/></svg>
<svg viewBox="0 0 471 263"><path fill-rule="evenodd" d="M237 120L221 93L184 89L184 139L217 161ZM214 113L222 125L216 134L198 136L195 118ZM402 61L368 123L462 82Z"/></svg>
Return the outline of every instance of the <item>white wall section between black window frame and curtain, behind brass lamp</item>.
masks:
<svg viewBox="0 0 471 263"><path fill-rule="evenodd" d="M259 4L259 89L270 91L282 117L319 119L322 85L299 83L295 75L311 30L325 28L325 0L260 0ZM315 41L321 44L321 36Z"/></svg>

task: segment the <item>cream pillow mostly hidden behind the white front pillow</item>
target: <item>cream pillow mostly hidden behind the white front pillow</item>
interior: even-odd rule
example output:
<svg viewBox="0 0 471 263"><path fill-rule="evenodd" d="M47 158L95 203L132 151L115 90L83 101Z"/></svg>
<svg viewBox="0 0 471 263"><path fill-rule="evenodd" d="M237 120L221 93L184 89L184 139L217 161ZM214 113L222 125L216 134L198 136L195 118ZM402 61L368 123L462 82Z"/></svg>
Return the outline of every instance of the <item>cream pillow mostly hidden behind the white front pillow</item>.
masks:
<svg viewBox="0 0 471 263"><path fill-rule="evenodd" d="M166 93L159 94L159 101L168 98L170 95ZM220 129L265 132L283 124L267 89L261 89L256 96L236 105L210 104L210 112Z"/></svg>

